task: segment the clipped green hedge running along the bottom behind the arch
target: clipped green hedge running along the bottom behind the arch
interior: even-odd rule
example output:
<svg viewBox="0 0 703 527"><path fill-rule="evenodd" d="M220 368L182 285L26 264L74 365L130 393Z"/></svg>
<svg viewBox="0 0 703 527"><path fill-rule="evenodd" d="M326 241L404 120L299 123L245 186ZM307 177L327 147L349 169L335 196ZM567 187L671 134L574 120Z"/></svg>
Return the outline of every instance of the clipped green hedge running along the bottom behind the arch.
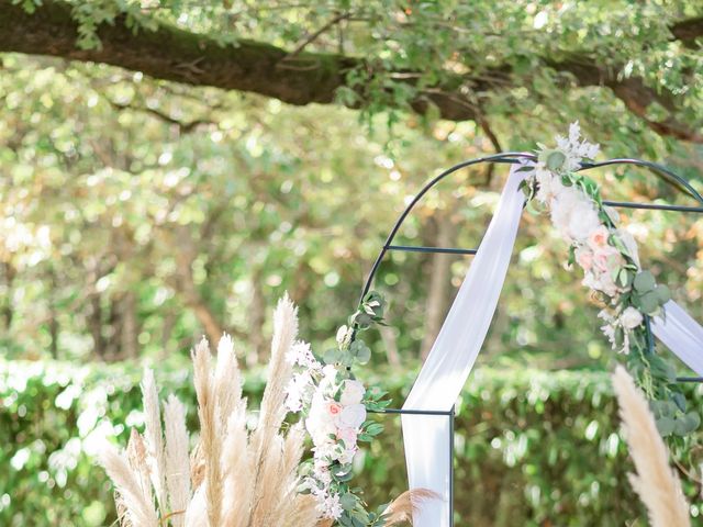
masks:
<svg viewBox="0 0 703 527"><path fill-rule="evenodd" d="M189 375L183 367L160 370L157 380L190 404L194 429ZM91 456L102 437L125 444L124 425L142 426L140 378L135 366L0 361L0 525L114 522L110 485ZM253 402L261 379L247 377ZM395 402L410 385L406 374L377 380ZM701 391L690 391L700 404ZM479 369L457 408L457 525L622 526L645 518L627 484L632 466L606 373ZM358 458L356 480L372 505L406 486L399 419L378 418L387 429ZM698 515L696 489L685 487Z"/></svg>

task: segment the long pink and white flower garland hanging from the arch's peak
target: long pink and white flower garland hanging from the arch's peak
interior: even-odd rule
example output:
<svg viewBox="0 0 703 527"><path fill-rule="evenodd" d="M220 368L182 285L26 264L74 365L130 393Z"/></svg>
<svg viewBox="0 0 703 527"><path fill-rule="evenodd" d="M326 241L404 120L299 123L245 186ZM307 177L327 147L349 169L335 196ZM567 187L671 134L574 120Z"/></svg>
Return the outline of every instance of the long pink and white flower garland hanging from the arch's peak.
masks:
<svg viewBox="0 0 703 527"><path fill-rule="evenodd" d="M603 204L599 186L578 172L583 160L593 159L599 146L581 138L579 123L568 137L557 137L556 148L538 145L537 160L518 170L527 172L523 190L548 208L551 223L569 244L569 265L583 270L583 285L603 305L601 329L613 349L627 356L657 417L661 435L687 435L700 425L699 414L687 412L676 386L676 371L656 355L649 317L661 314L669 288L657 284L643 270L633 236L618 226L617 212Z"/></svg>

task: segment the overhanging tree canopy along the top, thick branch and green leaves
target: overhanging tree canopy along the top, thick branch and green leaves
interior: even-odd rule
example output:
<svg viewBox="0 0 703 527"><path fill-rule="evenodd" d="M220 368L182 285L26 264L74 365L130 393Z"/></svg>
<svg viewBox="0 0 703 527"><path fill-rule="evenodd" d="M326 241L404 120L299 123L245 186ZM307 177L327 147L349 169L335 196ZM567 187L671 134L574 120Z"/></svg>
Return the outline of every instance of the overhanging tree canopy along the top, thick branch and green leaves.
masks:
<svg viewBox="0 0 703 527"><path fill-rule="evenodd" d="M489 126L569 91L615 98L696 143L703 14L692 1L181 2L3 0L0 51L157 79Z"/></svg>

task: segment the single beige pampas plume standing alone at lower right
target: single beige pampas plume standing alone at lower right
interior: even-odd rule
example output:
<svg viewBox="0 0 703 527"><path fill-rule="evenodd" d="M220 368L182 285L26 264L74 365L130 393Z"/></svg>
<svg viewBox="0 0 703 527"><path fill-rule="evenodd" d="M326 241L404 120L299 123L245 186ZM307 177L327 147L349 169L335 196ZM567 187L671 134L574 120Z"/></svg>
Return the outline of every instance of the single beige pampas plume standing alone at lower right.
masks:
<svg viewBox="0 0 703 527"><path fill-rule="evenodd" d="M647 401L622 366L613 374L629 455L637 474L629 482L647 507L654 527L688 527L689 504L681 482L669 467L669 456Z"/></svg>

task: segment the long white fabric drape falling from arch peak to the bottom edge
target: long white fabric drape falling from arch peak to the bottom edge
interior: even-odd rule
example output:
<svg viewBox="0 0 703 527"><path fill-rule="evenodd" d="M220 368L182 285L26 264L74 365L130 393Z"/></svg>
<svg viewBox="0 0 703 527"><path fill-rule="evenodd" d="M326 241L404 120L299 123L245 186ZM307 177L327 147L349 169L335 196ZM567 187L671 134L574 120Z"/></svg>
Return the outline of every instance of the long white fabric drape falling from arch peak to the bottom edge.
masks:
<svg viewBox="0 0 703 527"><path fill-rule="evenodd" d="M471 372L493 318L522 216L525 195L518 186L525 172L518 172L520 167L511 168L498 209L403 408L450 411ZM442 496L423 504L413 525L448 527L449 417L406 414L402 425L410 487Z"/></svg>

